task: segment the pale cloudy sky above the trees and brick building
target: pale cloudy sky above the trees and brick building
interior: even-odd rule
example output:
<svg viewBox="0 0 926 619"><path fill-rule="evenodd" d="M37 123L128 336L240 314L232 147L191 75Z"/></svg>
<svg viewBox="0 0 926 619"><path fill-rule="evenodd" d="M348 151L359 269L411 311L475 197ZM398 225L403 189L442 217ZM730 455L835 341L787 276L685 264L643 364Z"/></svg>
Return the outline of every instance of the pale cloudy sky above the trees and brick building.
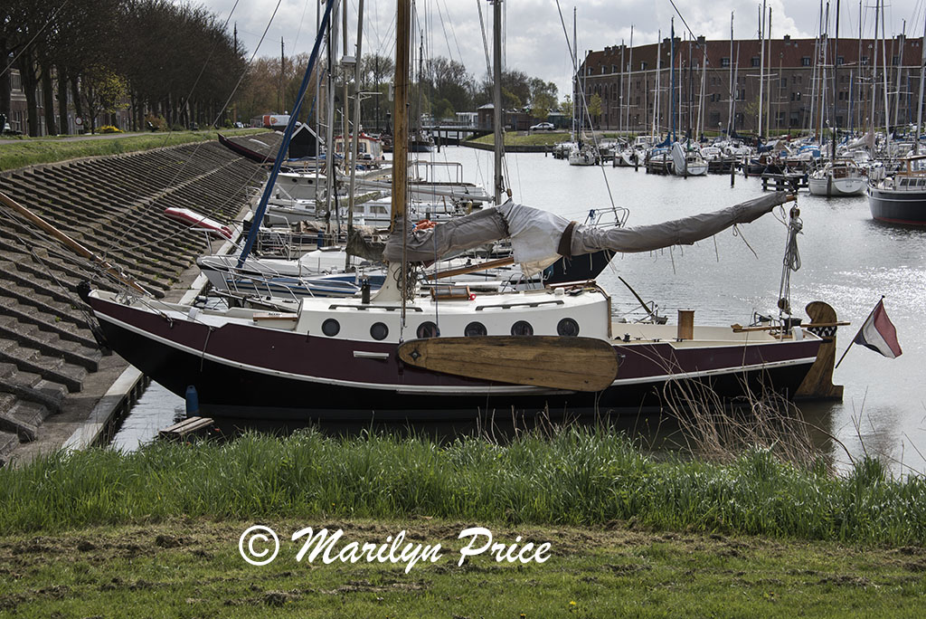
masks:
<svg viewBox="0 0 926 619"><path fill-rule="evenodd" d="M669 0L559 0L569 37L572 36L572 9L576 8L579 57L586 50L606 45L656 43L661 32L669 35L669 22L675 17L675 32L686 32L682 19L694 35L708 39L728 39L733 13L733 34L737 39L757 38L761 1L756 0L674 0L680 14ZM888 34L905 28L907 36L923 34L923 4L926 0L888 0L884 24ZM229 18L238 28L238 37L253 53L278 0L205 0L204 4L222 20ZM278 56L281 38L286 53L311 51L314 42L317 0L279 0L279 9L269 24L266 38L257 49L258 56ZM351 53L356 44L357 0L342 0L348 14ZM820 31L820 2L814 0L769 0L771 34L779 38L812 38ZM830 32L834 32L835 4L831 2ZM864 36L872 36L875 0L863 0ZM424 33L426 57L444 56L462 61L477 79L486 72L485 52L480 32L479 7L487 35L490 37L492 6L486 0L418 0L419 28ZM840 34L857 36L858 0L842 0ZM826 3L823 3L826 6ZM510 0L504 5L507 20L506 66L528 75L556 82L560 96L568 92L571 61L569 45L560 22L557 0ZM364 54L394 54L394 0L365 0ZM824 18L825 22L825 18ZM581 60L580 60L581 61Z"/></svg>

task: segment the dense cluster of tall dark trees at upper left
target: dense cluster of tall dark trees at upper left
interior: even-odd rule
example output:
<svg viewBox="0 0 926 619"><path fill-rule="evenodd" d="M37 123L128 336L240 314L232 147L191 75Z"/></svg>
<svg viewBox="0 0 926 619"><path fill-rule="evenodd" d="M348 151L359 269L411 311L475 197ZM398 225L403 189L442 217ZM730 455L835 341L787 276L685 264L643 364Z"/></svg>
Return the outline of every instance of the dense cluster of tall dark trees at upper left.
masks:
<svg viewBox="0 0 926 619"><path fill-rule="evenodd" d="M169 126L224 120L246 61L226 24L203 6L169 0L5 0L0 8L0 113L11 109L10 67L19 69L28 133L66 133L69 102L91 130L128 108Z"/></svg>

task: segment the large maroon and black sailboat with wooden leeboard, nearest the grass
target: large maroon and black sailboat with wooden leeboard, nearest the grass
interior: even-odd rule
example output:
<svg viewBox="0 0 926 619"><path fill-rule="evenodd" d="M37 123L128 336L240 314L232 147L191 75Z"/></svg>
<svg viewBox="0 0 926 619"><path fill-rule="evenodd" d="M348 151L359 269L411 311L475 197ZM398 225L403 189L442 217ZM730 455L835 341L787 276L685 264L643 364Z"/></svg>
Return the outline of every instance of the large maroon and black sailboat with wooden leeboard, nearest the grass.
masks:
<svg viewBox="0 0 926 619"><path fill-rule="evenodd" d="M324 10L294 118L333 4L328 0ZM757 329L694 326L687 317L678 325L613 322L611 298L594 282L500 294L447 284L420 294L414 277L420 265L494 240L509 238L513 260L530 275L563 257L690 245L755 221L789 196L774 193L677 221L608 229L508 200L414 229L405 183L409 5L398 2L394 210L379 292L303 298L292 311L266 311L96 289L84 297L107 345L174 393L194 386L201 414L251 420L639 412L657 410L673 385L710 388L719 398L765 391L793 396L822 340L795 329L790 319ZM499 36L498 3L494 19ZM278 172L279 163L271 177ZM268 198L269 186L257 221ZM244 263L256 235L257 226L240 257Z"/></svg>

